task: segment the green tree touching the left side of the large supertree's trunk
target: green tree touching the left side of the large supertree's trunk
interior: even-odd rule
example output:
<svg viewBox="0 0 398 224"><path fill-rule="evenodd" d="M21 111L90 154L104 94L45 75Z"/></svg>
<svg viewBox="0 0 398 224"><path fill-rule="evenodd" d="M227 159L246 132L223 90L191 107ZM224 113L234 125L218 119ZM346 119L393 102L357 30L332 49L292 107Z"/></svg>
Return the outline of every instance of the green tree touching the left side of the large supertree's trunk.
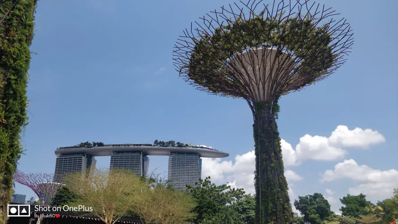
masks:
<svg viewBox="0 0 398 224"><path fill-rule="evenodd" d="M252 195L244 195L242 200L234 201L231 208L238 213L241 224L254 224L256 219L256 200Z"/></svg>

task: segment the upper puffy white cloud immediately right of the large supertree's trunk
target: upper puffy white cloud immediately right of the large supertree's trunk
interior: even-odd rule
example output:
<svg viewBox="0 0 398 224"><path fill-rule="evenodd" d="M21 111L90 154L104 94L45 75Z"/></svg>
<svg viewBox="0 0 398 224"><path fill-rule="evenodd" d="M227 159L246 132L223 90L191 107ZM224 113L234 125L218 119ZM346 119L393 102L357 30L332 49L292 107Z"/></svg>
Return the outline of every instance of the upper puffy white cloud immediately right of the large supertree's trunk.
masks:
<svg viewBox="0 0 398 224"><path fill-rule="evenodd" d="M308 159L333 161L347 154L344 147L368 148L371 144L384 141L384 136L377 131L361 128L349 130L347 126L339 125L330 137L304 135L296 149L285 140L281 140L283 163L285 166L297 166Z"/></svg>

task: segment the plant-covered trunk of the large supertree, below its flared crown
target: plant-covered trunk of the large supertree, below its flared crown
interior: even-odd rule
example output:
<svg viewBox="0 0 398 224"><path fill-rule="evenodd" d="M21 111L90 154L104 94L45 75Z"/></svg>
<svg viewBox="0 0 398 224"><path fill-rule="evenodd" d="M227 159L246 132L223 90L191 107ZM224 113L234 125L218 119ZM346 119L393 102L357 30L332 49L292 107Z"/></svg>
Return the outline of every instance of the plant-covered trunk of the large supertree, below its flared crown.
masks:
<svg viewBox="0 0 398 224"><path fill-rule="evenodd" d="M274 105L260 104L254 116L256 153L256 223L286 224L292 208L284 176L281 139L275 122Z"/></svg>

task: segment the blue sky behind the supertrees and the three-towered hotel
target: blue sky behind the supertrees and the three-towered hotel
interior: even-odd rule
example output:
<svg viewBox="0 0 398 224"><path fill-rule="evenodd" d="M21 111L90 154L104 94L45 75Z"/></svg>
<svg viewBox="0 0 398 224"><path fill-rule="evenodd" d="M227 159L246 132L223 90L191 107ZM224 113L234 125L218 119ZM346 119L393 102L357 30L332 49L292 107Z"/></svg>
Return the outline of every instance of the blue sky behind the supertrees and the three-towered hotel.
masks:
<svg viewBox="0 0 398 224"><path fill-rule="evenodd" d="M351 24L355 38L353 52L346 65L328 79L281 98L280 136L297 150L296 145L304 135L329 137L343 125L348 130L371 129L369 133L373 134L377 130L385 140L373 141L365 135L365 145L369 145L366 149L343 144L339 147L347 153L336 159L308 157L300 165L286 167L294 172L290 173L293 180L289 180L294 192L291 199L315 192L326 196L326 189L330 189L330 193L335 193L328 196L338 201L355 192L355 187L372 185L373 191L361 189L371 193L368 198L376 202L390 197L392 186L398 188L398 182L392 180L398 179L396 170L388 171L397 169L398 76L394 63L398 60L395 53L398 2L318 2L332 7ZM37 55L32 55L27 88L30 124L23 138L27 151L21 156L18 169L25 173L53 173L54 150L83 141L175 140L230 153L230 157L222 160L206 160L207 167L235 166L233 171L219 169L222 173L215 174L218 175L215 181L220 184L236 181L238 187L251 187L247 181L238 183L239 177L247 173L242 173L236 165L242 157L235 160L236 155L250 157L253 150L253 120L248 105L241 99L195 90L178 79L172 64L174 43L183 29L207 12L231 3L228 0L39 1L31 46ZM350 141L351 137L345 138ZM97 167L109 166L110 157L96 159ZM353 159L359 165L357 171L369 171L363 176L369 173L372 176L373 172L386 179L385 183L371 178L356 179L355 175L339 176L339 171L329 182L320 181L326 170L334 170L345 159ZM150 171L156 168L158 173L167 171L167 162L167 157L151 156ZM248 164L252 164L250 158ZM353 165L347 169L354 172L356 168ZM374 187L382 190L375 193ZM350 188L355 189L350 191ZM19 184L16 193L35 196ZM332 210L338 211L341 204L330 201Z"/></svg>

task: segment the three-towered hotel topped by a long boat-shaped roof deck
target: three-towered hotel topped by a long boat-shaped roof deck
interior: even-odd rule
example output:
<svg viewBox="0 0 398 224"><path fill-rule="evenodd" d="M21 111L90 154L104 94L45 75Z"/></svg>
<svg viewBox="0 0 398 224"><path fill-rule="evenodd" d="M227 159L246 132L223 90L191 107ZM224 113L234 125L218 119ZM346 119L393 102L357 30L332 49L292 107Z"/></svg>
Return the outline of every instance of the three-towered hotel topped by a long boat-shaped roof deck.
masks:
<svg viewBox="0 0 398 224"><path fill-rule="evenodd" d="M129 169L140 177L148 175L148 155L169 156L168 179L175 189L195 186L202 173L201 157L222 158L229 154L187 143L185 147L161 147L152 144L103 144L85 147L75 145L55 150L54 182L59 183L62 175L86 171L96 166L95 156L111 156L110 169Z"/></svg>

